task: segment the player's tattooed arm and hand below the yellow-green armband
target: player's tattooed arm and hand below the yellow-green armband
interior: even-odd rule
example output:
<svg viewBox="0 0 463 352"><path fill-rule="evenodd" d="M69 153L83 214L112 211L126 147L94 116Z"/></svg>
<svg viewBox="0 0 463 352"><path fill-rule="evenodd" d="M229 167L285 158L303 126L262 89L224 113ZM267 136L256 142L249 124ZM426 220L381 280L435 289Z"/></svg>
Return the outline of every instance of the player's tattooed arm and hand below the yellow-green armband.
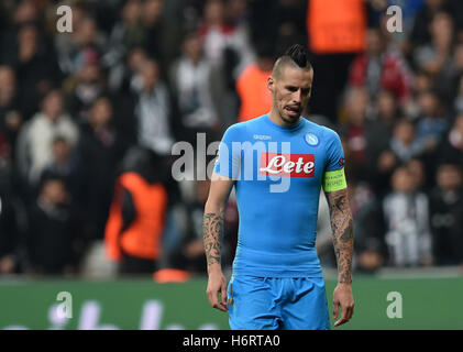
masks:
<svg viewBox="0 0 463 352"><path fill-rule="evenodd" d="M333 246L338 263L338 286L333 293L333 316L338 318L339 307L342 316L335 327L348 322L354 312L352 296L352 253L354 246L354 230L349 207L348 189L326 193L330 208Z"/></svg>

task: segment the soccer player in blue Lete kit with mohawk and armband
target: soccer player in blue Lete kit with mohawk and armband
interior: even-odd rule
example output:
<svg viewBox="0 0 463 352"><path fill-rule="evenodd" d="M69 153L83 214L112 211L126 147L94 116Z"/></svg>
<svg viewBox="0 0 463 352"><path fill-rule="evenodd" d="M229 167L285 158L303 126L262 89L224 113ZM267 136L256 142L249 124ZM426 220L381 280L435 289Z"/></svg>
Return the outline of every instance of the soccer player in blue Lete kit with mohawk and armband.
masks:
<svg viewBox="0 0 463 352"><path fill-rule="evenodd" d="M330 329L316 249L320 187L333 231L338 285L334 326L353 315L353 226L338 134L301 117L313 69L301 45L279 57L268 77L268 114L224 133L205 207L207 296L229 311L231 329ZM233 273L227 287L220 263L225 201L235 187L240 213Z"/></svg>

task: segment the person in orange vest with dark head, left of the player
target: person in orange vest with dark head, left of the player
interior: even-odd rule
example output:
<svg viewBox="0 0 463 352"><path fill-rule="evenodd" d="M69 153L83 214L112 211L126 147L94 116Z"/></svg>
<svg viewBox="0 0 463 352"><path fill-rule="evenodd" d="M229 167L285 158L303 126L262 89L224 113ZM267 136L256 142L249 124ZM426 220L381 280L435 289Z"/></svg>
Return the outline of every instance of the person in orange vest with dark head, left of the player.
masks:
<svg viewBox="0 0 463 352"><path fill-rule="evenodd" d="M153 274L159 268L168 196L159 170L163 158L137 153L117 180L104 243L121 274Z"/></svg>

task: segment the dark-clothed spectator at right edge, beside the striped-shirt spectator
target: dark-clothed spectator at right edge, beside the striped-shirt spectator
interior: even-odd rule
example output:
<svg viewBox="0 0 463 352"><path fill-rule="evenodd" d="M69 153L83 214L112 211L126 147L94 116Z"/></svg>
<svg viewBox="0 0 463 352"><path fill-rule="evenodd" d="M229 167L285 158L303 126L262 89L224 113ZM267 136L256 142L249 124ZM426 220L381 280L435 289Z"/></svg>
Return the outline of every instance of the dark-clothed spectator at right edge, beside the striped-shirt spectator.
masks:
<svg viewBox="0 0 463 352"><path fill-rule="evenodd" d="M433 254L438 265L463 264L462 170L442 164L436 173L437 186L430 196Z"/></svg>

